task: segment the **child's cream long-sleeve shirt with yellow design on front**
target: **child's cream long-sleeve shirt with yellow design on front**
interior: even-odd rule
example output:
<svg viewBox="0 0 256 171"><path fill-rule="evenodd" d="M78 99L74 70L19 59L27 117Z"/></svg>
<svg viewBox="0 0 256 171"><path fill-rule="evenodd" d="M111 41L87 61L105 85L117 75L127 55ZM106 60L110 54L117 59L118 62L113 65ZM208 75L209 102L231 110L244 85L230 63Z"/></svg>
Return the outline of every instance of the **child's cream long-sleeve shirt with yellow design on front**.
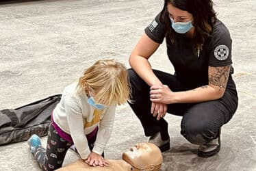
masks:
<svg viewBox="0 0 256 171"><path fill-rule="evenodd" d="M60 103L53 110L53 120L62 131L71 135L75 147L82 159L90 154L86 134L91 133L98 125L96 142L92 151L101 155L114 124L116 106L103 110L95 109L87 103L85 93L77 93L77 82L64 88Z"/></svg>

